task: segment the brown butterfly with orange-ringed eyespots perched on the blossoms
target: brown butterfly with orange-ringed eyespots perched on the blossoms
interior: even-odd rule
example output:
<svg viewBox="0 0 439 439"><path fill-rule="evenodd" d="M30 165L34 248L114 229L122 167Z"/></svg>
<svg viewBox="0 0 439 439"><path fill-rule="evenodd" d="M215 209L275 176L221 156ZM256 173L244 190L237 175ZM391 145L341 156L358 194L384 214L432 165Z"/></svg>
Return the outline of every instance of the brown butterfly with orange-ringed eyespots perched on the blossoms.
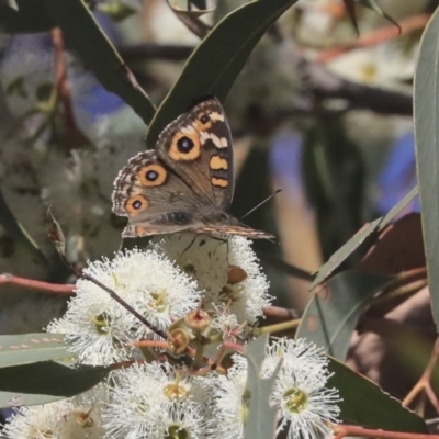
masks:
<svg viewBox="0 0 439 439"><path fill-rule="evenodd" d="M128 217L123 237L195 232L272 239L225 212L234 185L230 128L210 97L167 125L155 149L128 160L114 181L113 212Z"/></svg>

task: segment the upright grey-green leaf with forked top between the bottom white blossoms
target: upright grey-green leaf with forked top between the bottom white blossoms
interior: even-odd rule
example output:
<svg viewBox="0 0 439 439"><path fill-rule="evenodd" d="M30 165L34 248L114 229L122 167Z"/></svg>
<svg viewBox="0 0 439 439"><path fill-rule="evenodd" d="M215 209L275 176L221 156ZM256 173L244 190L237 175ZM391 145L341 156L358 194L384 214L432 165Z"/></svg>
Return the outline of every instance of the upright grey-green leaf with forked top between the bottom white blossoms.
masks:
<svg viewBox="0 0 439 439"><path fill-rule="evenodd" d="M268 380L260 378L259 373L266 358L267 341L268 335L257 338L248 344L247 347L248 374L246 392L249 392L250 405L247 421L244 426L244 439L270 439L274 437L278 409L270 405L270 395L282 362L279 362L273 374Z"/></svg>

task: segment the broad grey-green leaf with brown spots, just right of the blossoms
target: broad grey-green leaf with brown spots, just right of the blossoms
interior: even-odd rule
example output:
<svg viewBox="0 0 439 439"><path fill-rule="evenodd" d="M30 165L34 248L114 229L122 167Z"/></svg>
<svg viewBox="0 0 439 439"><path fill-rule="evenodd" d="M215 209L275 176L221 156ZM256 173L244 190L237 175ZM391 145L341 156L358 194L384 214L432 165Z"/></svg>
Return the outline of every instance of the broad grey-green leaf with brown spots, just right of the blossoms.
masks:
<svg viewBox="0 0 439 439"><path fill-rule="evenodd" d="M295 338L306 338L325 352L344 360L364 305L392 275L345 271L329 279L325 290L314 295L302 316Z"/></svg>

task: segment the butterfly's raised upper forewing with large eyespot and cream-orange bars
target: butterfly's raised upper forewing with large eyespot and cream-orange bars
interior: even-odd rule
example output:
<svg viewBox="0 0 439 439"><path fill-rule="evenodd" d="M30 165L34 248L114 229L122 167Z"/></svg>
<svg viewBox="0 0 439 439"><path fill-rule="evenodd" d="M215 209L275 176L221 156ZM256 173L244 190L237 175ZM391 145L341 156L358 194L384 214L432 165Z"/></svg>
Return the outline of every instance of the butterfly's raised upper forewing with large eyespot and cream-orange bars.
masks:
<svg viewBox="0 0 439 439"><path fill-rule="evenodd" d="M223 106L210 98L171 122L156 144L159 158L193 191L199 206L225 211L234 193L230 130Z"/></svg>

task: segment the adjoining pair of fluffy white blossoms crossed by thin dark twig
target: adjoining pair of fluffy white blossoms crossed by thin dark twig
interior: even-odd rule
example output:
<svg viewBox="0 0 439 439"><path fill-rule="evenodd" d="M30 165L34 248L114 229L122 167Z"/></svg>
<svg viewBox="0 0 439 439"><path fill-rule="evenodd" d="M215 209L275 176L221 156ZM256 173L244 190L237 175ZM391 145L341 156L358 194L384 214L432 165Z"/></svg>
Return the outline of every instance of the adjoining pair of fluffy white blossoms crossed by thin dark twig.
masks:
<svg viewBox="0 0 439 439"><path fill-rule="evenodd" d="M195 282L156 251L117 252L112 260L89 263L85 273L114 290L161 330L200 302ZM79 362L106 365L128 360L133 341L157 337L94 283L80 279L76 292L65 316L50 323L47 331L66 334Z"/></svg>

